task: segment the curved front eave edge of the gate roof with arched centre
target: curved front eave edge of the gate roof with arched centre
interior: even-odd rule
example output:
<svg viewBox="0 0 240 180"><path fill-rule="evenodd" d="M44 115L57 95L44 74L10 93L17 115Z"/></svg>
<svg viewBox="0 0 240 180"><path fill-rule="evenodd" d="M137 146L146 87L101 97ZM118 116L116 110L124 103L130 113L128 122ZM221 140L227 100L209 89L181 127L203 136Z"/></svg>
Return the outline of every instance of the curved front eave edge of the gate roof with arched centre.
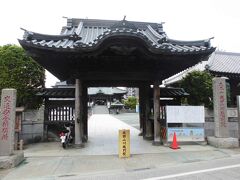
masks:
<svg viewBox="0 0 240 180"><path fill-rule="evenodd" d="M44 37L43 34L41 34L42 37ZM135 40L140 40L142 41L143 45L146 47L146 49L148 49L151 53L154 54L166 54L166 55L176 55L176 54L181 54L181 55L186 55L186 54L202 54L202 53L211 53L213 51L215 51L214 47L205 47L205 46L201 46L201 47L196 47L195 49L193 47L189 47L187 49L187 47L185 48L180 48L177 47L178 45L176 45L176 47L174 47L174 45L172 45L171 43L168 44L167 42L163 42L162 44L155 44L153 42L151 42L146 36L144 36L141 33L134 33L134 32L110 32L110 33L106 33L102 36L99 36L97 40L94 41L94 43L91 44L83 44L81 42L79 42L78 40L76 41L76 37L75 37L75 42L73 43L72 46L67 46L67 47L63 47L63 46L49 46L47 43L49 43L50 41L56 41L56 40L49 40L49 37L55 37L53 35L47 35L46 39L47 40L42 40L40 42L38 41L34 41L34 40L18 40L19 43L23 46L23 47L28 47L28 48L36 48L36 49L42 49L42 50L50 50L50 51L57 51L57 52L77 52L77 53L88 53L88 52L93 52L96 51L97 49L99 49L101 47L101 45L104 43L105 40L108 39L114 39L114 38L132 38ZM60 35L60 36L56 36L56 38L65 38L66 37L70 37L69 35ZM54 39L54 38L53 38ZM80 39L80 38L79 38ZM71 40L71 39L70 39ZM49 41L49 42L47 42ZM58 41L60 41L58 39ZM68 40L67 40L68 41ZM74 40L71 40L74 41ZM182 41L181 41L182 42ZM194 43L196 44L200 43L200 41L194 41ZM190 43L190 42L188 42ZM193 43L193 45L195 45ZM185 45L184 45L185 46Z"/></svg>

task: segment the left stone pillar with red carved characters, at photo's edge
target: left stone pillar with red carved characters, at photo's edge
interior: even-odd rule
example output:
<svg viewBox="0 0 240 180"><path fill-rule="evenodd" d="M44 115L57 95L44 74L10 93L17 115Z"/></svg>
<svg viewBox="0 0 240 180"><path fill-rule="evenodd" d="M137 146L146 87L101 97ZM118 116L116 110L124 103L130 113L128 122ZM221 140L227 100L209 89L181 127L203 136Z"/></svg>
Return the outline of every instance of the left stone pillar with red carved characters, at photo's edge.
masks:
<svg viewBox="0 0 240 180"><path fill-rule="evenodd" d="M15 89L3 89L0 114L0 156L9 156L14 150L14 129L16 114Z"/></svg>

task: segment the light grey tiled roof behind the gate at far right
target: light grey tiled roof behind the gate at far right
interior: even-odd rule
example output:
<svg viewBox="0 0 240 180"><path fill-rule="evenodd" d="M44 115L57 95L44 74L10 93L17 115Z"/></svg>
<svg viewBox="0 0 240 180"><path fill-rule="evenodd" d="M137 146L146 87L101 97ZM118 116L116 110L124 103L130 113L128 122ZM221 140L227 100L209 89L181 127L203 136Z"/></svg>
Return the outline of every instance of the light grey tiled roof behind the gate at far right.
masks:
<svg viewBox="0 0 240 180"><path fill-rule="evenodd" d="M165 80L164 85L176 83L192 71L208 70L214 75L240 78L240 53L215 51L208 59Z"/></svg>

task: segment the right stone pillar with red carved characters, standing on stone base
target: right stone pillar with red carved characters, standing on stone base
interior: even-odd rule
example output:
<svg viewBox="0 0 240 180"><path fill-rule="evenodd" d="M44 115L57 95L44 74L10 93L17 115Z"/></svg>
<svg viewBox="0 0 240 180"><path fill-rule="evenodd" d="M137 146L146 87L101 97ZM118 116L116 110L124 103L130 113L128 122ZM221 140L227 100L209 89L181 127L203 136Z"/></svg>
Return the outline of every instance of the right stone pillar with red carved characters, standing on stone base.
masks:
<svg viewBox="0 0 240 180"><path fill-rule="evenodd" d="M213 78L215 136L229 137L225 78Z"/></svg>

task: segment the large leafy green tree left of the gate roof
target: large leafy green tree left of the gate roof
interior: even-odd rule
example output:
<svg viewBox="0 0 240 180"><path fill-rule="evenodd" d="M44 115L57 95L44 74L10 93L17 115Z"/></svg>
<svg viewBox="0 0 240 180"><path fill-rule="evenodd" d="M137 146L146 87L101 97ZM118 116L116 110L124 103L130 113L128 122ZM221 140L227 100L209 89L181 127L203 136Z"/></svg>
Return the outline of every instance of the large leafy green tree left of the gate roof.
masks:
<svg viewBox="0 0 240 180"><path fill-rule="evenodd" d="M0 90L17 89L17 106L38 108L42 99L36 96L44 87L44 69L23 48L16 45L0 46Z"/></svg>

